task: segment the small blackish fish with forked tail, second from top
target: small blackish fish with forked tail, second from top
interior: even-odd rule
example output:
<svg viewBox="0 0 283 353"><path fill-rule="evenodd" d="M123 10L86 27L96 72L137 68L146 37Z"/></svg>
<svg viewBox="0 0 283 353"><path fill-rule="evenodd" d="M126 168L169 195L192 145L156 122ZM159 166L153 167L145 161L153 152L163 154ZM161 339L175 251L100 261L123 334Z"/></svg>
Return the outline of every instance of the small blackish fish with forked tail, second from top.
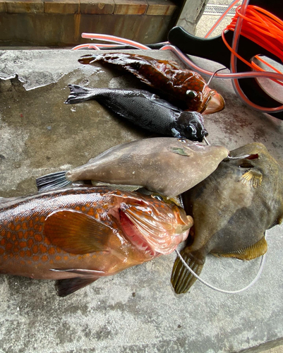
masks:
<svg viewBox="0 0 283 353"><path fill-rule="evenodd" d="M200 142L207 135L203 116L198 112L183 112L146 90L68 86L71 94L66 104L97 100L119 116L161 135L184 137Z"/></svg>

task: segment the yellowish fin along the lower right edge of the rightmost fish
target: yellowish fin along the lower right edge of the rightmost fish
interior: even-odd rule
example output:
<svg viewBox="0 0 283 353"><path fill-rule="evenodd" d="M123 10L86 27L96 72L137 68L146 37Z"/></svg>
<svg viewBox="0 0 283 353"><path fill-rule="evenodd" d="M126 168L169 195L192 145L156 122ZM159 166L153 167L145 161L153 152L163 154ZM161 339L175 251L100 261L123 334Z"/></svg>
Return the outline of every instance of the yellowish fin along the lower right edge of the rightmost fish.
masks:
<svg viewBox="0 0 283 353"><path fill-rule="evenodd" d="M225 258L239 258L239 260L253 260L258 256L263 256L267 251L267 242L265 237L261 238L257 243L243 249L231 251L230 253L212 253L215 256L223 256Z"/></svg>

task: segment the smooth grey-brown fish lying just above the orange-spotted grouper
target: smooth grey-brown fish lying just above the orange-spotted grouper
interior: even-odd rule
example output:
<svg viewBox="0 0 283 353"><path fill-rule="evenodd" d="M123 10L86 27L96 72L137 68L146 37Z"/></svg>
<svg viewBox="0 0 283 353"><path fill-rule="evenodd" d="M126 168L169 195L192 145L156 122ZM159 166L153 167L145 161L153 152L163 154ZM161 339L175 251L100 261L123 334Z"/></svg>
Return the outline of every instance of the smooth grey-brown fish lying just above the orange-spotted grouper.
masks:
<svg viewBox="0 0 283 353"><path fill-rule="evenodd" d="M229 151L178 138L145 138L116 145L68 172L37 178L37 188L56 189L77 181L112 184L117 189L145 188L167 197L191 189L212 173Z"/></svg>

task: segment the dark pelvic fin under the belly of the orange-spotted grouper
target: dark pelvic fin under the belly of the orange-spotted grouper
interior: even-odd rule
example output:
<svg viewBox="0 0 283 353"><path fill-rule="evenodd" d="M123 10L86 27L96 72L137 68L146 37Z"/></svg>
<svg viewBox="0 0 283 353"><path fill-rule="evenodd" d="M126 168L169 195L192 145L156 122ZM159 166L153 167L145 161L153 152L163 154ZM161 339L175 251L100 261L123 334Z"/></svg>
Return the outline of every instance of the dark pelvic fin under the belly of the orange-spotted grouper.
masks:
<svg viewBox="0 0 283 353"><path fill-rule="evenodd" d="M76 292L78 289L90 285L90 283L98 280L97 278L89 277L74 277L74 278L65 278L64 280L56 280L55 288L59 297L66 297L73 292Z"/></svg>

